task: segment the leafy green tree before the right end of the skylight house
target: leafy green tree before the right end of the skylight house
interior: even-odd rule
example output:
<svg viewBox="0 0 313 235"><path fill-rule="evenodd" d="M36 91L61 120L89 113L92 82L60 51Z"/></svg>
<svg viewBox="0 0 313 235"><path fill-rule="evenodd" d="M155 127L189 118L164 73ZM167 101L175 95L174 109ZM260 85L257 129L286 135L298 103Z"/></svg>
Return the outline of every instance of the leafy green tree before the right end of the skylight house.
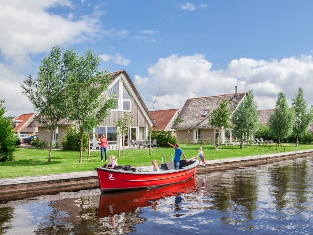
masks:
<svg viewBox="0 0 313 235"><path fill-rule="evenodd" d="M253 91L248 92L248 96L233 113L232 123L233 131L240 138L240 149L242 149L244 135L251 136L258 127L258 106Z"/></svg>

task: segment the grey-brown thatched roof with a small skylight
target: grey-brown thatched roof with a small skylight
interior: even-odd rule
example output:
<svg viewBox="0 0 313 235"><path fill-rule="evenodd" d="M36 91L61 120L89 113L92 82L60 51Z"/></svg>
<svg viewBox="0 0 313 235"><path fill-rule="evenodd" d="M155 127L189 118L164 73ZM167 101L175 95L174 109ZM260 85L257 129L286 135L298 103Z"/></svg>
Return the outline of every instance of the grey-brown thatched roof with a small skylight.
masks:
<svg viewBox="0 0 313 235"><path fill-rule="evenodd" d="M228 99L230 101L229 109L233 111L246 95L248 95L247 92L240 92L237 93L237 96L233 93L187 99L178 115L184 122L178 124L176 127L179 129L213 128L209 125L209 119L213 110L218 108L224 99ZM205 117L202 118L205 110L208 110L208 112Z"/></svg>

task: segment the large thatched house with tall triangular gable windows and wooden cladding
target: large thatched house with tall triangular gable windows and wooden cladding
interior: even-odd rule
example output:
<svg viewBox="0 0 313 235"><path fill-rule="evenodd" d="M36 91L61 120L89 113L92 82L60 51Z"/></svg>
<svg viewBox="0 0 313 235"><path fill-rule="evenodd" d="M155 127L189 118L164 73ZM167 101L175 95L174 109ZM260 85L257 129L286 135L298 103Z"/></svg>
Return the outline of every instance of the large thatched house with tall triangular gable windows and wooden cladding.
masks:
<svg viewBox="0 0 313 235"><path fill-rule="evenodd" d="M129 138L127 138L126 144L128 144L129 139L146 139L148 134L148 128L155 125L154 120L151 117L149 110L147 109L145 103L143 102L139 92L137 91L131 78L126 73L125 70L118 70L110 73L111 81L108 85L108 91L104 94L99 94L99 96L105 96L105 98L113 97L116 98L116 108L110 110L109 116L100 123L99 127L94 128L94 133L91 138L95 138L95 133L103 133L111 144L120 144L118 142L118 137L116 134L115 121L124 116L125 111L131 112L132 126L129 127ZM39 140L50 140L49 128L34 121L32 125L38 127L38 139ZM74 123L69 123L64 120L63 124L54 133L53 143L58 142L62 144L62 136L66 133L69 126L74 125Z"/></svg>

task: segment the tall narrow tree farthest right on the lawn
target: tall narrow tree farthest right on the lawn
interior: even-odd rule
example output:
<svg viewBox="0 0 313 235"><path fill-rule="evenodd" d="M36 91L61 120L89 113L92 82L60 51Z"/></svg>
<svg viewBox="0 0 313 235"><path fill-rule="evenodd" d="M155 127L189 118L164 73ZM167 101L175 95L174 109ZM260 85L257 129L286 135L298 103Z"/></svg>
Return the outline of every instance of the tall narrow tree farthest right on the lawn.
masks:
<svg viewBox="0 0 313 235"><path fill-rule="evenodd" d="M299 87L298 93L295 93L295 98L292 99L292 108L295 112L295 125L293 132L297 136L296 146L299 146L299 136L303 136L313 120L313 106L311 106L309 110L308 102L304 98L301 87Z"/></svg>

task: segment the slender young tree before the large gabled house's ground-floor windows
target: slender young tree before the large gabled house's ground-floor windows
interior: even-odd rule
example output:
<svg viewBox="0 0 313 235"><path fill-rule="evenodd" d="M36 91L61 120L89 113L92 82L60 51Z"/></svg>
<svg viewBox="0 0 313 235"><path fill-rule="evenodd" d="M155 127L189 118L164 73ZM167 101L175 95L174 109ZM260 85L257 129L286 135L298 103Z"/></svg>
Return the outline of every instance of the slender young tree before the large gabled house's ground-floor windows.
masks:
<svg viewBox="0 0 313 235"><path fill-rule="evenodd" d="M118 157L121 156L120 138L122 136L123 154L125 154L125 136L128 135L128 128L132 126L131 112L125 111L123 118L117 119L115 122L116 133L118 134Z"/></svg>

